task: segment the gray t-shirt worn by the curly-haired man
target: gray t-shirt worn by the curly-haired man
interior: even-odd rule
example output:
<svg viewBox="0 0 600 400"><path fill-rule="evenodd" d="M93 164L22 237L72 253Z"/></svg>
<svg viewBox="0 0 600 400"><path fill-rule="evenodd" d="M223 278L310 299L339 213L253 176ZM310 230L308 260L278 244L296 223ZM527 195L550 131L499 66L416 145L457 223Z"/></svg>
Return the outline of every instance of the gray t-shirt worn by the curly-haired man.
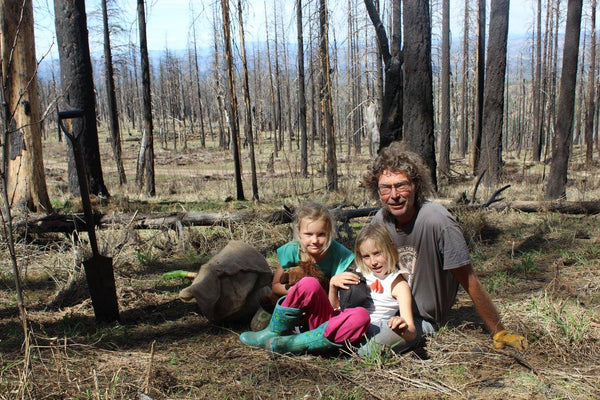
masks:
<svg viewBox="0 0 600 400"><path fill-rule="evenodd" d="M412 220L396 227L384 208L371 223L384 225L398 246L402 268L410 272L414 312L443 324L456 301L458 281L452 269L470 264L469 250L460 226L443 206L426 201Z"/></svg>

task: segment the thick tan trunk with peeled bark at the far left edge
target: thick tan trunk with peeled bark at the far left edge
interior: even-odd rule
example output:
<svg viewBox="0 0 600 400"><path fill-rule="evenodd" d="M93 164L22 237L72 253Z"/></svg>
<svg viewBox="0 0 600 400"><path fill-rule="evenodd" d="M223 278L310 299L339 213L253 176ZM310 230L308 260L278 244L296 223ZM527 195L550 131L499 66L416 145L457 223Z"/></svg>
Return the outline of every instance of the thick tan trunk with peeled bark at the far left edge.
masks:
<svg viewBox="0 0 600 400"><path fill-rule="evenodd" d="M1 5L6 206L51 212L42 154L33 9L30 1L3 0Z"/></svg>

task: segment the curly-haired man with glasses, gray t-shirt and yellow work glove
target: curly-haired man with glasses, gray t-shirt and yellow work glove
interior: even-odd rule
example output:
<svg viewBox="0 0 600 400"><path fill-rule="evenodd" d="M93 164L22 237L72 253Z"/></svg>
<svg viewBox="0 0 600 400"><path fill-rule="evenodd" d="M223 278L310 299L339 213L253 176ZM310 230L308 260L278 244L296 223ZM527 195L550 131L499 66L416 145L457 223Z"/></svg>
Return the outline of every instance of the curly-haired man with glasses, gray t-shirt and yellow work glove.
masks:
<svg viewBox="0 0 600 400"><path fill-rule="evenodd" d="M433 193L433 185L429 169L417 154L393 142L369 166L362 185L382 204L372 223L388 229L398 247L400 267L409 271L419 337L434 334L447 321L460 284L473 300L496 348L527 348L523 336L510 334L502 325L473 271L460 226L442 205L426 200ZM380 342L388 344L393 335L382 332Z"/></svg>

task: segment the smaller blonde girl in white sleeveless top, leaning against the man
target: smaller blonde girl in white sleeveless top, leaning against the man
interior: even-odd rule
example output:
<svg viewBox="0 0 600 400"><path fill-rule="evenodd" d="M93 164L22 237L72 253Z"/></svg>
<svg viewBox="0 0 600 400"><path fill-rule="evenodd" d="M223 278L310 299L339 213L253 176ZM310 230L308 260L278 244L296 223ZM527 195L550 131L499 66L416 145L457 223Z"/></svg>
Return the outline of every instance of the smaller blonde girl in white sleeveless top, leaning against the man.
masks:
<svg viewBox="0 0 600 400"><path fill-rule="evenodd" d="M358 354L366 356L381 347L408 349L417 337L412 294L408 272L398 268L398 250L387 229L379 224L364 227L356 237L354 254L372 299L367 306L371 324L366 336L370 339Z"/></svg>

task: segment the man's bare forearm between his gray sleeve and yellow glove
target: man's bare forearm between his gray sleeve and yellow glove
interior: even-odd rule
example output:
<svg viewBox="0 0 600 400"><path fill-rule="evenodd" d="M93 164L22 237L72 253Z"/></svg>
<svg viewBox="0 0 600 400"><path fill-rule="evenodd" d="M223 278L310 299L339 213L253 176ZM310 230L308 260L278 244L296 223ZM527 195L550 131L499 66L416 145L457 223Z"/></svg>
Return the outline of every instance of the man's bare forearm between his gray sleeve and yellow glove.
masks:
<svg viewBox="0 0 600 400"><path fill-rule="evenodd" d="M504 326L500 322L500 315L492 303L488 292L485 290L471 264L463 265L462 267L452 270L454 277L465 289L465 291L473 300L475 309L479 316L487 326L488 330L495 335L504 330Z"/></svg>

